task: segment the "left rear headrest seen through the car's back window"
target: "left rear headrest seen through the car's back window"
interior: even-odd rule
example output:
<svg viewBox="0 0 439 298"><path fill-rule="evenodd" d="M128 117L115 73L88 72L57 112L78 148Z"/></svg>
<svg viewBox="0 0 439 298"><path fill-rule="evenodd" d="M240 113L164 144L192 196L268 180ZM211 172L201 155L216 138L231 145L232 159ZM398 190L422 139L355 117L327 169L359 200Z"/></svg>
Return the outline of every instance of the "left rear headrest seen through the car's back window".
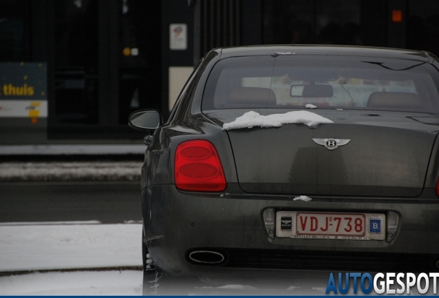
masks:
<svg viewBox="0 0 439 298"><path fill-rule="evenodd" d="M235 87L228 91L229 103L276 104L276 95L270 88Z"/></svg>

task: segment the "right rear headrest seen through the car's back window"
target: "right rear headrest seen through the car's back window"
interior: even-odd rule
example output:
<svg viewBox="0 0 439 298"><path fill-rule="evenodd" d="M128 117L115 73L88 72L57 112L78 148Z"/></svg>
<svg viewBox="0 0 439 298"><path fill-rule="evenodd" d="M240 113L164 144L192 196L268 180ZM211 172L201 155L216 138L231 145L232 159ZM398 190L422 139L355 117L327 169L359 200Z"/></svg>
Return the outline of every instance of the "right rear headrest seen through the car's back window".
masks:
<svg viewBox="0 0 439 298"><path fill-rule="evenodd" d="M420 108L417 94L409 92L373 92L367 101L369 108Z"/></svg>

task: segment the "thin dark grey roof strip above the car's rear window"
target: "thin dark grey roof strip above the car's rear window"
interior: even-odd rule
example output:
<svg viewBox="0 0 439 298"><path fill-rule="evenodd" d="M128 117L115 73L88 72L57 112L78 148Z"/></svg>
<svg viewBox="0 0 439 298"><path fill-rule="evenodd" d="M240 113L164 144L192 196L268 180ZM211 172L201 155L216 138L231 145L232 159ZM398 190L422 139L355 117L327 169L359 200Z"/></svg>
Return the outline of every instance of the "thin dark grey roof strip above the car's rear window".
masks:
<svg viewBox="0 0 439 298"><path fill-rule="evenodd" d="M221 58L262 56L280 54L309 54L330 56L363 56L363 57L388 57L398 59L413 59L429 61L432 57L424 51L404 50L394 48L373 48L363 46L316 46L316 45L267 45L267 46L242 46L215 49Z"/></svg>

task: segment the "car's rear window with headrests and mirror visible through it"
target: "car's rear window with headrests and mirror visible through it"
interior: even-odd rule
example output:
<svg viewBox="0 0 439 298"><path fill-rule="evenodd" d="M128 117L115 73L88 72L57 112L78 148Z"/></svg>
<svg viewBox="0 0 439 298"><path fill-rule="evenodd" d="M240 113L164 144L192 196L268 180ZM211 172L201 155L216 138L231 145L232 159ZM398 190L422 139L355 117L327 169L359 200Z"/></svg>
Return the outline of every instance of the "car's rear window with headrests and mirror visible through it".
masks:
<svg viewBox="0 0 439 298"><path fill-rule="evenodd" d="M438 70L409 59L282 55L216 63L203 110L343 108L438 112Z"/></svg>

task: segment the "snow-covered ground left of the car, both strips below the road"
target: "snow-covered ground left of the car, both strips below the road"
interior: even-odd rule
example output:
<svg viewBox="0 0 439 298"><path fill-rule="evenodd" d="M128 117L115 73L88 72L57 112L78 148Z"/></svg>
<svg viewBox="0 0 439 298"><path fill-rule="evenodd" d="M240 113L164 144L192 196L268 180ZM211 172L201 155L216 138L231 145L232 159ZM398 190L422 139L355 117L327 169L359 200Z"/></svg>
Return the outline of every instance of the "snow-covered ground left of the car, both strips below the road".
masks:
<svg viewBox="0 0 439 298"><path fill-rule="evenodd" d="M140 268L141 235L139 223L0 224L0 295L142 295L142 270L93 270Z"/></svg>

